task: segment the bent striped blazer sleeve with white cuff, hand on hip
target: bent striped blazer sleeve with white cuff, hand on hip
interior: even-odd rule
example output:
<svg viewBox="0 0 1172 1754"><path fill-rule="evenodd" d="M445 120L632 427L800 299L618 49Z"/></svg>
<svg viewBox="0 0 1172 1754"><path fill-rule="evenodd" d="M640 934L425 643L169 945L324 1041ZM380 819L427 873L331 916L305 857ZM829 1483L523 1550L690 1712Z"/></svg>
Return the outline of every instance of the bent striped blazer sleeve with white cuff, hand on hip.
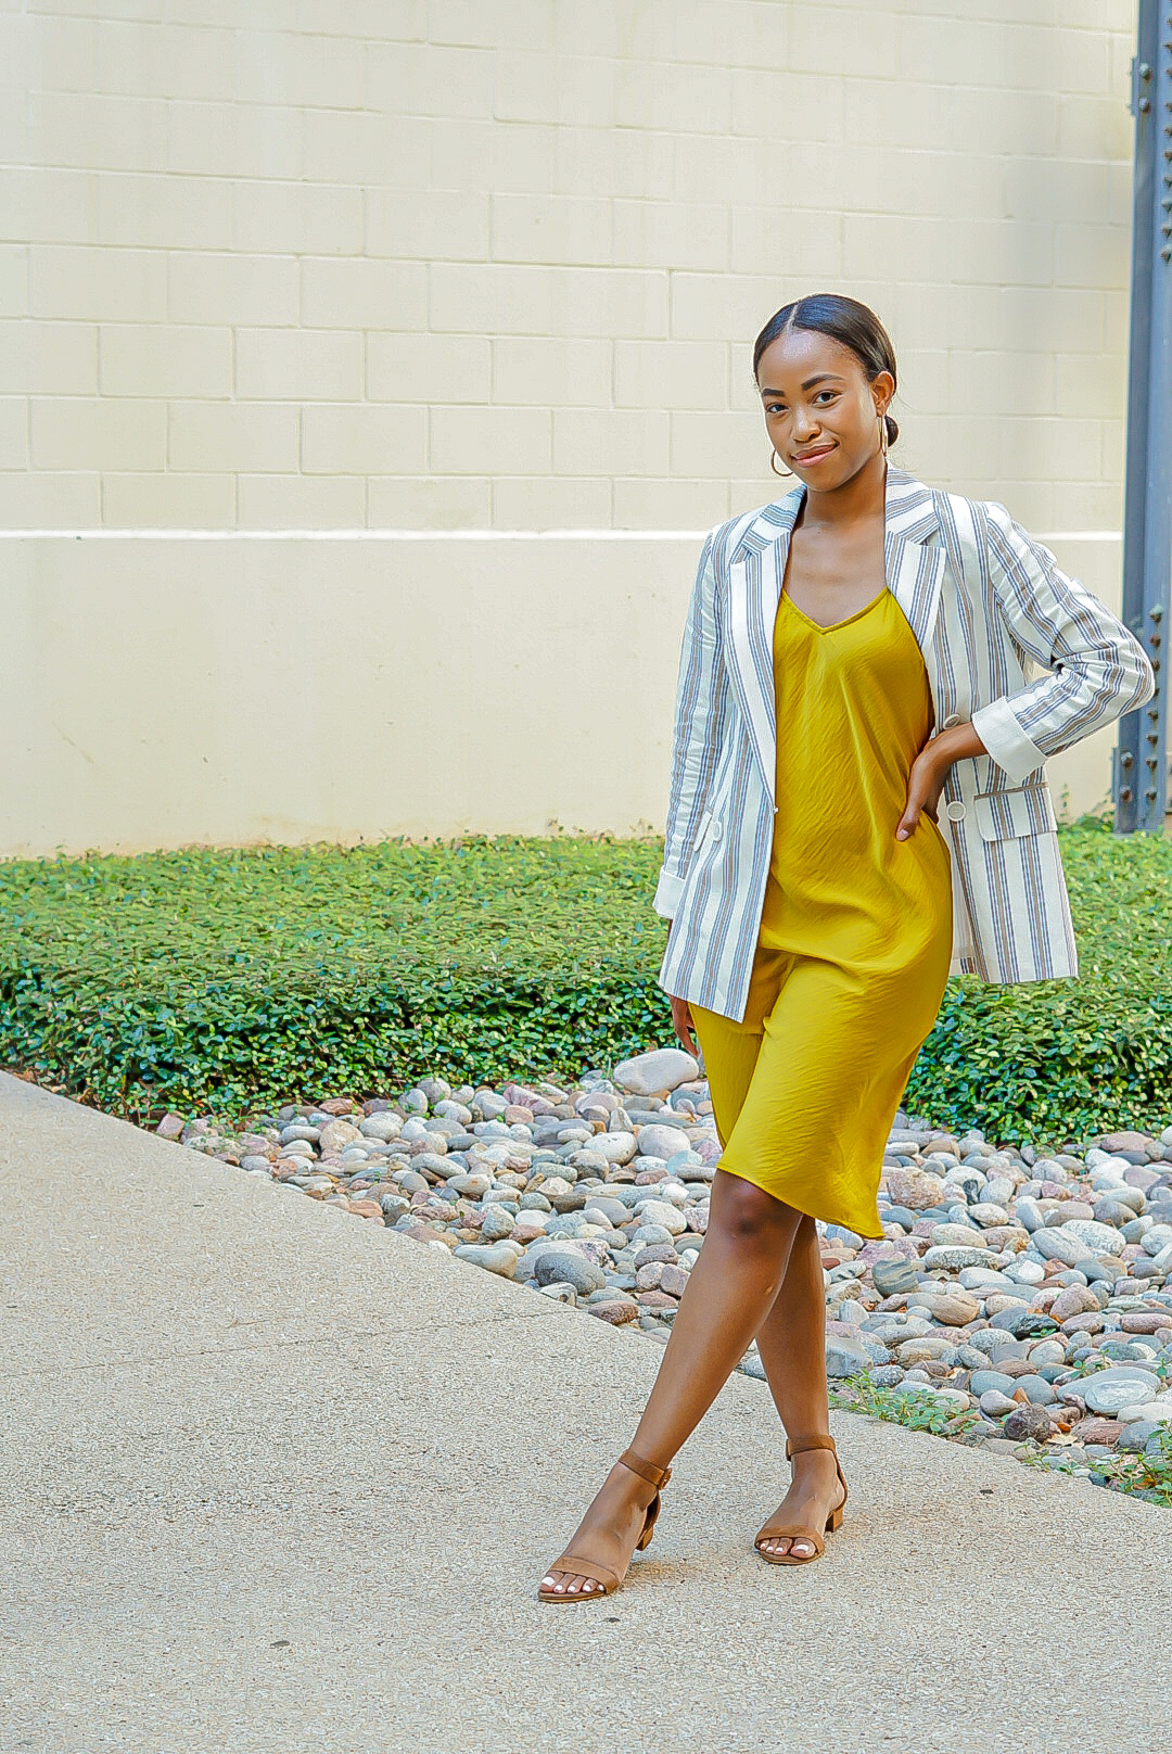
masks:
<svg viewBox="0 0 1172 1754"><path fill-rule="evenodd" d="M988 502L990 586L1016 644L1047 675L977 707L972 726L1014 781L1156 691L1147 652L1042 544Z"/></svg>

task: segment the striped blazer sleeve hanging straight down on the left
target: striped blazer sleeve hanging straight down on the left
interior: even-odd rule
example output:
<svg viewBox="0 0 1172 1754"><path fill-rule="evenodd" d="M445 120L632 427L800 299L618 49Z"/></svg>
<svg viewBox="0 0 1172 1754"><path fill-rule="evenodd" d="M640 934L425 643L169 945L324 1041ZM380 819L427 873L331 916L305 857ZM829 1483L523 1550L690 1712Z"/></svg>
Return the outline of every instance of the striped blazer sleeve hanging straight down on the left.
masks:
<svg viewBox="0 0 1172 1754"><path fill-rule="evenodd" d="M719 526L709 531L700 551L679 654L663 865L651 903L663 919L675 916L684 888L716 765L719 724L728 705L716 591L718 535Z"/></svg>

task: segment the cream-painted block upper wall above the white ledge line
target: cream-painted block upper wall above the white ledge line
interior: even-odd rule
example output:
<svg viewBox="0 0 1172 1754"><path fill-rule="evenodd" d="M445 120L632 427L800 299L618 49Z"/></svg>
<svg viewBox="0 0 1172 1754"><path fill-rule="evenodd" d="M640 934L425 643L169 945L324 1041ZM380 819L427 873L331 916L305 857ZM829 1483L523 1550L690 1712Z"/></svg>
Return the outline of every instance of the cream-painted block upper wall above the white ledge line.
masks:
<svg viewBox="0 0 1172 1754"><path fill-rule="evenodd" d="M0 523L695 530L835 286L905 467L1116 530L1133 19L2 0Z"/></svg>

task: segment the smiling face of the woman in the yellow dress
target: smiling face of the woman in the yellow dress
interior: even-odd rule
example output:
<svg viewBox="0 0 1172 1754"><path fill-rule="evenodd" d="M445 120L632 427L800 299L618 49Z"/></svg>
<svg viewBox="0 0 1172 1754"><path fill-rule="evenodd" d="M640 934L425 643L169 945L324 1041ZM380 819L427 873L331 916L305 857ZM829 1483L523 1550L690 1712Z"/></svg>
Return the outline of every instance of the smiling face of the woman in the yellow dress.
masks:
<svg viewBox="0 0 1172 1754"><path fill-rule="evenodd" d="M890 372L867 382L858 354L818 330L788 330L758 361L765 430L809 488L851 481L879 451L879 416L895 393Z"/></svg>

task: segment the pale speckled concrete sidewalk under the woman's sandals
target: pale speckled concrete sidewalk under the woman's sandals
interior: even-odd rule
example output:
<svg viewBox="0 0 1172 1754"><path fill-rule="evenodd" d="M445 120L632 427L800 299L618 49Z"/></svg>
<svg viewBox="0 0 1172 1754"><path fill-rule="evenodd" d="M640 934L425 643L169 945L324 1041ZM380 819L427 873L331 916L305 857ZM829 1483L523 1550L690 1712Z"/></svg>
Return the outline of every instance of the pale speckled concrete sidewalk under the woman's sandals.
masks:
<svg viewBox="0 0 1172 1754"><path fill-rule="evenodd" d="M735 1375L653 1545L533 1596L660 1347L0 1077L0 1750L1167 1740L1172 1515L835 1415L809 1568Z"/></svg>

